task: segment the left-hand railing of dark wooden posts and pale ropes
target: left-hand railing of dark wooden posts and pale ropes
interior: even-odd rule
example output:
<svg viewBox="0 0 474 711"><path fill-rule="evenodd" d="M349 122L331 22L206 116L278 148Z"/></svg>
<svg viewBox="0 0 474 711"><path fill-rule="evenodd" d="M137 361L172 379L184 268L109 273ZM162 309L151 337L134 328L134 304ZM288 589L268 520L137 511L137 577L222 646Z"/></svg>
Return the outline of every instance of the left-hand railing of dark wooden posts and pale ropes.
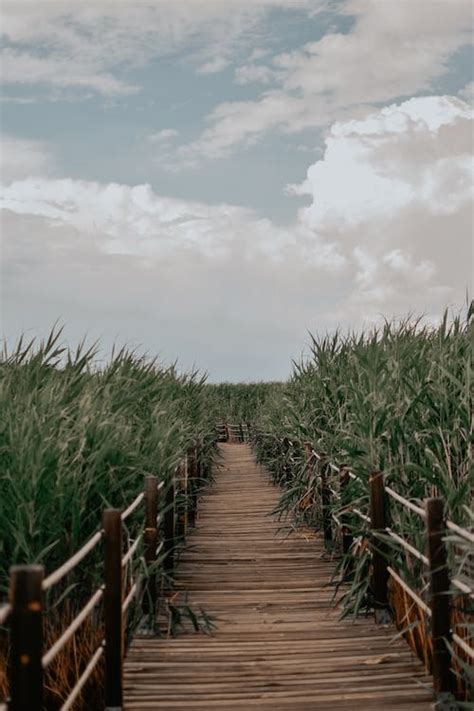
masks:
<svg viewBox="0 0 474 711"><path fill-rule="evenodd" d="M9 602L0 607L0 625L8 626L10 637L9 711L43 709L45 671L86 620L97 613L99 603L102 603L104 638L78 675L61 711L73 708L102 657L105 660L105 707L122 708L124 640L129 608L138 598L143 615L155 620L158 561L162 562L164 575L169 575L174 567L177 542L186 533L187 526L194 523L197 491L204 478L201 452L194 446L166 483L158 482L155 476L147 476L144 490L123 511L105 509L101 528L47 577L40 565L18 565L10 569ZM185 504L181 516L177 515L178 496ZM159 497L163 499L162 506L159 506ZM126 541L124 523L140 509L143 513L139 531L133 541ZM45 593L64 581L101 543L102 584L52 646L45 649ZM138 551L143 552L146 572L134 578L132 563Z"/></svg>

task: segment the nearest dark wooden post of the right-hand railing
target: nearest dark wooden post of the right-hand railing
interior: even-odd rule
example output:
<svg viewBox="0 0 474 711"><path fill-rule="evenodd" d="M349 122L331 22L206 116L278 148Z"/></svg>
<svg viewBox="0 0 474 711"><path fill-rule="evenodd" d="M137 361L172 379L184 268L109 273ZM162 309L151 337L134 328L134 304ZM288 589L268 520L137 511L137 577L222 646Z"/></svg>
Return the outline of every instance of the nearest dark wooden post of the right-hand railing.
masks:
<svg viewBox="0 0 474 711"><path fill-rule="evenodd" d="M430 561L431 635L433 638L433 682L438 693L454 688L451 672L450 597L448 555L444 537L446 523L442 499L427 499L426 532Z"/></svg>

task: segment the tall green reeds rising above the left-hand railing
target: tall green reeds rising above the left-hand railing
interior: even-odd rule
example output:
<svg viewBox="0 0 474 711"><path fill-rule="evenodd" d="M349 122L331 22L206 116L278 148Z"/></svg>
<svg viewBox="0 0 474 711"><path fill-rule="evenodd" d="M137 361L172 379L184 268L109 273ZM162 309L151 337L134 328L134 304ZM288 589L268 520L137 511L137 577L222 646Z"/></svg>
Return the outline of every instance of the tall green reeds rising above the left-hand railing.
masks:
<svg viewBox="0 0 474 711"><path fill-rule="evenodd" d="M10 565L51 571L97 530L105 507L123 508L146 474L165 478L192 442L210 447L213 436L198 374L127 350L97 368L94 348L60 341L56 330L20 342L0 362L3 593Z"/></svg>

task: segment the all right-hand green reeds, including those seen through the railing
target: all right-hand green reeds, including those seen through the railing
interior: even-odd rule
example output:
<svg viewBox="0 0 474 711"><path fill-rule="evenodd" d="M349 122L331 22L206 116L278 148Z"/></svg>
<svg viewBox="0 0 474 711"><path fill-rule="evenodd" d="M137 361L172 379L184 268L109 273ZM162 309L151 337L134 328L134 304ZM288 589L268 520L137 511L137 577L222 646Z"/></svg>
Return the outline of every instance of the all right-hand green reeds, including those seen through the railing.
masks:
<svg viewBox="0 0 474 711"><path fill-rule="evenodd" d="M289 382L259 411L257 426L266 436L257 438L257 454L283 486L277 510L292 525L323 527L322 465L308 466L305 441L326 461L348 466L358 477L341 486L337 468L330 474L326 468L335 492L331 521L344 519L353 536L349 555L341 558L341 529L334 526L329 546L339 561L335 581L345 582L344 614L374 603L366 545L372 534L353 513L357 508L369 514L371 472L384 472L386 483L408 499L442 497L450 519L473 525L472 317L471 307L465 317L445 314L437 327L407 319L361 334L314 337L309 358L295 364ZM419 551L426 549L421 518L393 501L389 516L395 531ZM375 543L388 546L391 565L423 595L429 580L422 563L388 536ZM452 574L472 587L472 546L450 536L449 556ZM456 598L455 604L457 609L464 603ZM454 614L460 615L455 619L465 634L465 614ZM422 620L415 615L411 624L419 628L412 632L423 646ZM462 659L459 665L466 667Z"/></svg>

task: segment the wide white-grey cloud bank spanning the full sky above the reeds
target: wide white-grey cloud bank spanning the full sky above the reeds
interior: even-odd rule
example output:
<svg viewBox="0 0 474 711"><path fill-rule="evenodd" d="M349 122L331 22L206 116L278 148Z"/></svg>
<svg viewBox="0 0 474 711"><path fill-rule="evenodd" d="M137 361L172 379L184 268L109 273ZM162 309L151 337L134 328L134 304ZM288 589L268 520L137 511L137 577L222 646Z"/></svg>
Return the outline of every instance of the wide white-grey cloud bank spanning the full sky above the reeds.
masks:
<svg viewBox="0 0 474 711"><path fill-rule="evenodd" d="M472 288L471 115L455 97L419 97L335 122L292 187L310 204L285 227L149 185L13 181L4 329L44 332L61 316L78 338L127 334L215 378L271 378L307 329L459 307Z"/></svg>

